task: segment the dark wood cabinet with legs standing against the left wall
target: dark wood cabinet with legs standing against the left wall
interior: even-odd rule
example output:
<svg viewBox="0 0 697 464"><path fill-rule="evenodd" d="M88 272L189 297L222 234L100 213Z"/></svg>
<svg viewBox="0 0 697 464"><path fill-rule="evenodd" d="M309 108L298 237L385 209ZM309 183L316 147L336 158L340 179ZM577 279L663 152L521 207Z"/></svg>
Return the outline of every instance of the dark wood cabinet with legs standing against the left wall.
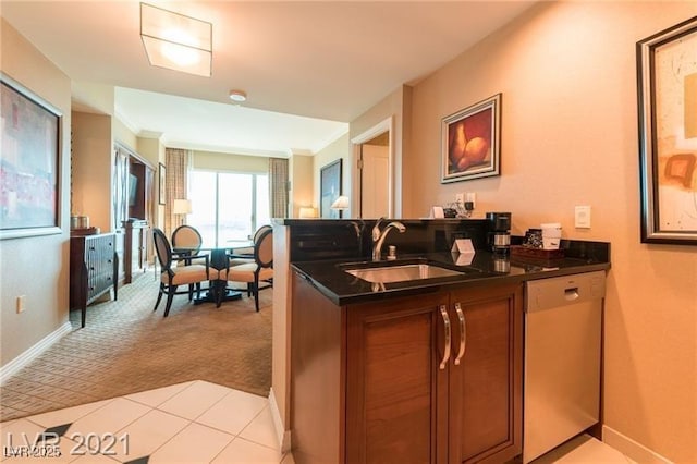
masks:
<svg viewBox="0 0 697 464"><path fill-rule="evenodd" d="M112 288L117 298L118 276L114 234L71 236L70 307L82 310L82 327L85 327L88 304Z"/></svg>

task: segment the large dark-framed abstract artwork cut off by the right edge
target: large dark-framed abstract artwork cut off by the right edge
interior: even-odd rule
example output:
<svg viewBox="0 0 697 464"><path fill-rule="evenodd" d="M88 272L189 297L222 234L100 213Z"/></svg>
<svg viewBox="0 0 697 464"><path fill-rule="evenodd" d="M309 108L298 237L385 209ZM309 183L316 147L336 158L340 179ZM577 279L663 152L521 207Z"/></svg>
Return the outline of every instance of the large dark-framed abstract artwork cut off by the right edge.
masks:
<svg viewBox="0 0 697 464"><path fill-rule="evenodd" d="M636 56L641 242L697 245L697 16Z"/></svg>

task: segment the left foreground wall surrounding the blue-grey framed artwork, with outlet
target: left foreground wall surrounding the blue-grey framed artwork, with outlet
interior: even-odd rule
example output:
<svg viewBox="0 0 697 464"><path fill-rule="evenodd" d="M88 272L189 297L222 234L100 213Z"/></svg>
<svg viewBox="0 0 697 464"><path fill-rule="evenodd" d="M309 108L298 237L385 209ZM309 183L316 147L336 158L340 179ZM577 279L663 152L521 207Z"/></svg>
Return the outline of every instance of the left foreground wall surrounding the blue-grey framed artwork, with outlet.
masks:
<svg viewBox="0 0 697 464"><path fill-rule="evenodd" d="M68 321L70 229L70 80L0 19L2 72L60 109L59 208L62 232L0 241L0 365L38 343ZM15 300L26 295L26 310Z"/></svg>

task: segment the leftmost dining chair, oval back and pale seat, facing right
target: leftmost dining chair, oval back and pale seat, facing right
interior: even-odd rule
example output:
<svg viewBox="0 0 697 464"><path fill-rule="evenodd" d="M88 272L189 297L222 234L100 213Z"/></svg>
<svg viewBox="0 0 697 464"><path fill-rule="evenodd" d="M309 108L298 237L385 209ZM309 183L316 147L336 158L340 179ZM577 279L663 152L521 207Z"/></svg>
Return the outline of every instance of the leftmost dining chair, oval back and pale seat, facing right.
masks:
<svg viewBox="0 0 697 464"><path fill-rule="evenodd" d="M179 285L195 285L198 297L200 297L200 283L210 281L211 279L218 279L218 271L209 268L207 255L186 255L187 259L203 258L204 265L172 266L174 258L179 258L179 256L172 253L172 247L164 232L158 228L152 229L152 240L161 269L160 291L152 310L157 310L162 295L167 295L167 305L164 306L164 317L167 317L170 314L174 295L188 294L188 300L193 300L193 292L189 291L188 288L185 291L178 292L176 289Z"/></svg>

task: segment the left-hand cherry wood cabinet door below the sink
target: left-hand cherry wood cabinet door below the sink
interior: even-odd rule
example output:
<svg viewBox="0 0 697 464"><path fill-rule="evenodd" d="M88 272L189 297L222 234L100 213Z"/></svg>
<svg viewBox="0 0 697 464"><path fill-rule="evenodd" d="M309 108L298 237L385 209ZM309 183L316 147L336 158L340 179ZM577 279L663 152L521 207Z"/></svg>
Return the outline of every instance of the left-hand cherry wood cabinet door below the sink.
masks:
<svg viewBox="0 0 697 464"><path fill-rule="evenodd" d="M447 296L348 308L346 463L447 462Z"/></svg>

